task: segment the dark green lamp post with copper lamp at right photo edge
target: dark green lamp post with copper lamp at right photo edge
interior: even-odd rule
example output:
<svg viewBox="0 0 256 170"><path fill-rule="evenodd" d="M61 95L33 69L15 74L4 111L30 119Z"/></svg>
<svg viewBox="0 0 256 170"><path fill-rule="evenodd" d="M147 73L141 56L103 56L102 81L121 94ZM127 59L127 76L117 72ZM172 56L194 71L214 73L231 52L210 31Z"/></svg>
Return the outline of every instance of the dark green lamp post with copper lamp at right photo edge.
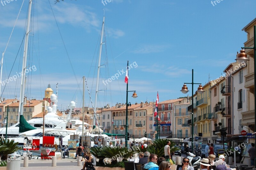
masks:
<svg viewBox="0 0 256 170"><path fill-rule="evenodd" d="M236 60L240 63L246 62L250 59L247 58L247 54L245 53L245 50L243 49L253 49L253 54L254 54L254 131L256 132L256 112L255 112L255 105L256 105L256 90L255 90L255 84L256 84L256 79L255 79L255 70L256 70L256 26L253 26L253 47L241 47L242 50L240 50L240 53L237 54ZM255 140L255 138L254 138ZM256 140L255 140L256 141ZM256 150L255 150L256 154ZM254 158L254 165L256 165L256 157Z"/></svg>

